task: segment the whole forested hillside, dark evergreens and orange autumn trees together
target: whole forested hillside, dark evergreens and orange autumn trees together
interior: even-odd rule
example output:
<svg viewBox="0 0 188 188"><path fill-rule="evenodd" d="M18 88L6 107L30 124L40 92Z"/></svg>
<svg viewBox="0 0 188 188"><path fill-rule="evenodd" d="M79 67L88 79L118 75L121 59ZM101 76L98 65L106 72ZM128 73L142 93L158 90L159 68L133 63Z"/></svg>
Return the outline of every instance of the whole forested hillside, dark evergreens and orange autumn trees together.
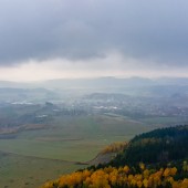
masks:
<svg viewBox="0 0 188 188"><path fill-rule="evenodd" d="M135 136L108 164L92 166L42 188L188 188L188 126Z"/></svg>

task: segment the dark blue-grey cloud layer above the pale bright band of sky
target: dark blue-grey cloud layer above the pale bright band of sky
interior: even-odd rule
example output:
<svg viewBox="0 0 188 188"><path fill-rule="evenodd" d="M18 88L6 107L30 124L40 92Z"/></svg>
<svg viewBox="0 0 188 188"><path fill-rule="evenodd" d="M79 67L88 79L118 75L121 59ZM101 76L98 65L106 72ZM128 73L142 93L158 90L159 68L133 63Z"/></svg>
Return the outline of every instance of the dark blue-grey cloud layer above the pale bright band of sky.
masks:
<svg viewBox="0 0 188 188"><path fill-rule="evenodd" d="M125 58L187 65L186 0L1 0L0 64Z"/></svg>

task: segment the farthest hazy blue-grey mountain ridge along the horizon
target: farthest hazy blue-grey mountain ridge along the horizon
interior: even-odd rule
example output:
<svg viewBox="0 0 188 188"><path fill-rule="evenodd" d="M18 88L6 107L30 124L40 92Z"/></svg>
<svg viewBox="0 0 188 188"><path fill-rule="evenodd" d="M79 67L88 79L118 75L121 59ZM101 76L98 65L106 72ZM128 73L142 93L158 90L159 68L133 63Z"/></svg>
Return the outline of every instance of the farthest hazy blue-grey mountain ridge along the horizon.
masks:
<svg viewBox="0 0 188 188"><path fill-rule="evenodd" d="M84 88L84 87L125 87L150 85L188 85L188 77L96 77L96 79L59 79L40 82L0 81L0 87L46 87L46 88Z"/></svg>

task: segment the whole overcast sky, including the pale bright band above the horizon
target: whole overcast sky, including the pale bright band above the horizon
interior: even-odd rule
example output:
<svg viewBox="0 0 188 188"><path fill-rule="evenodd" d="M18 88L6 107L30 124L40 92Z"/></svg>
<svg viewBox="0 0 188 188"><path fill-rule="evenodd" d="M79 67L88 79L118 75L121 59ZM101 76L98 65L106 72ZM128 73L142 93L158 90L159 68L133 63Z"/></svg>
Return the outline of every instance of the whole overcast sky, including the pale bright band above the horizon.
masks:
<svg viewBox="0 0 188 188"><path fill-rule="evenodd" d="M0 0L0 80L188 76L187 0Z"/></svg>

